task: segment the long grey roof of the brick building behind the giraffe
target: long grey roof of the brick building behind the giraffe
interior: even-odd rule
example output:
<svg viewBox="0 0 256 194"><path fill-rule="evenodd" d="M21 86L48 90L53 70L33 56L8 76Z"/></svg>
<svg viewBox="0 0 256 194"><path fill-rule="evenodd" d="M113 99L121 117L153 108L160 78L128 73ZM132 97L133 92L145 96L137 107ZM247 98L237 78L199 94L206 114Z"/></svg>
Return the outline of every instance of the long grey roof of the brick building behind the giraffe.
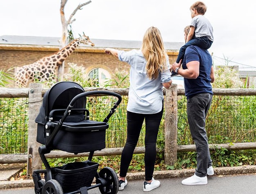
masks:
<svg viewBox="0 0 256 194"><path fill-rule="evenodd" d="M0 36L0 49L2 50L59 50L60 37L38 37L38 36ZM104 40L91 39L95 46L81 44L76 51L102 52L102 48L118 48L124 50L139 49L141 41L134 40ZM169 53L176 53L184 42L164 42L165 50Z"/></svg>

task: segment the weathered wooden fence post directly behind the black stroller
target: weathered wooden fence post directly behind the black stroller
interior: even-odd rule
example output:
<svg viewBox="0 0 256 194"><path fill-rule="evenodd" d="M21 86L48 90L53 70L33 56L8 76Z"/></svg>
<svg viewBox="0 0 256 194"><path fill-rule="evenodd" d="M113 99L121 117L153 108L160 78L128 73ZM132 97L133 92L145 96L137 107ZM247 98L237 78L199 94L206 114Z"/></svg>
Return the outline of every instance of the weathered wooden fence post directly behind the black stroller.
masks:
<svg viewBox="0 0 256 194"><path fill-rule="evenodd" d="M36 142L37 124L36 116L42 104L42 84L29 84L29 109L28 109L28 138L27 138L27 176L32 176L33 170L42 168L42 161L39 156L38 148L41 144Z"/></svg>

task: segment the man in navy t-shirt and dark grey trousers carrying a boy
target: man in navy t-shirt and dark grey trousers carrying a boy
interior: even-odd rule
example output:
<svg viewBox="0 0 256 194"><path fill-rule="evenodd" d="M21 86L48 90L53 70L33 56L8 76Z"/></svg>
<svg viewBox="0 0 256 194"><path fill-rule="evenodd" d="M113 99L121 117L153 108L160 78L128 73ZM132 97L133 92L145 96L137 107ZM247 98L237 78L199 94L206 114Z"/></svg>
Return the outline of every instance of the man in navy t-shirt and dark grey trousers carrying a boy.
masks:
<svg viewBox="0 0 256 194"><path fill-rule="evenodd" d="M172 71L184 77L188 124L197 152L195 174L184 179L182 184L204 185L207 184L207 175L214 174L205 130L206 115L213 97L212 57L207 50L198 46L189 46L185 51L182 68L180 67L181 61L175 62Z"/></svg>

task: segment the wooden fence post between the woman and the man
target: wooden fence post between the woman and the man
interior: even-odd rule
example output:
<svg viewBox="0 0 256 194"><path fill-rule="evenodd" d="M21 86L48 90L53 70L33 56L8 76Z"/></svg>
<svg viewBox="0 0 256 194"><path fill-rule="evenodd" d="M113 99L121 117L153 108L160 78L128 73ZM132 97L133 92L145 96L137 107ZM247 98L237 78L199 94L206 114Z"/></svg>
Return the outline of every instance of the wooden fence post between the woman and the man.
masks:
<svg viewBox="0 0 256 194"><path fill-rule="evenodd" d="M174 165L177 161L177 100L177 84L172 84L165 89L165 165Z"/></svg>

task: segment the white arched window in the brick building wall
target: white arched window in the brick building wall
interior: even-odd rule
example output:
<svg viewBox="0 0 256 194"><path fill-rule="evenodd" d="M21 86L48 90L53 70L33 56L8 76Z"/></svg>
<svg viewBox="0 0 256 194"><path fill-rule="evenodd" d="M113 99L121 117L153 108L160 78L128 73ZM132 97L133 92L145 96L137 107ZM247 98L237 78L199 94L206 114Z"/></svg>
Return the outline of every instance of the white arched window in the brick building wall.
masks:
<svg viewBox="0 0 256 194"><path fill-rule="evenodd" d="M104 86L104 82L106 82L106 79L111 79L109 72L103 68L95 68L91 70L88 74L88 77L90 79L97 79L98 83L96 85L99 87Z"/></svg>

